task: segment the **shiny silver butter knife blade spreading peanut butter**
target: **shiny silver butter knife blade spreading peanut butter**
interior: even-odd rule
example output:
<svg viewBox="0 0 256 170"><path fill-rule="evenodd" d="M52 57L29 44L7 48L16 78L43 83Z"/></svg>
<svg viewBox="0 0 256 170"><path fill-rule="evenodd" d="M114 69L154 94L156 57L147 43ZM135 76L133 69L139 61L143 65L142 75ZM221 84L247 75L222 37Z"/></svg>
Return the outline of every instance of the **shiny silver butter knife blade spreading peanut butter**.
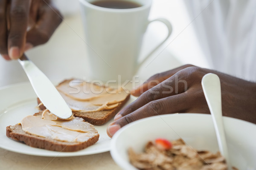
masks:
<svg viewBox="0 0 256 170"><path fill-rule="evenodd" d="M46 75L25 54L18 61L44 106L61 119L72 116L71 109Z"/></svg>

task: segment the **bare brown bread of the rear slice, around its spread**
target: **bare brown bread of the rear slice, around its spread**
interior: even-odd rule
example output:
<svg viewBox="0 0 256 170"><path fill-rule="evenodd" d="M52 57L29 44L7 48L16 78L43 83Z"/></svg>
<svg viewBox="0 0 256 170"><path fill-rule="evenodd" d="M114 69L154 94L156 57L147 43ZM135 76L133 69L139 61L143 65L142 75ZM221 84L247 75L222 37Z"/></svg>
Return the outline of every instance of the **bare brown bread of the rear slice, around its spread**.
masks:
<svg viewBox="0 0 256 170"><path fill-rule="evenodd" d="M61 83L64 83L66 81L70 81L71 79L64 80ZM59 83L59 85L61 84ZM122 102L118 103L118 106L116 108L113 108L111 110L103 110L103 111L93 111L93 112L79 112L79 111L73 111L74 116L83 118L86 122L89 122L92 125L103 125L106 122L108 122L113 116L118 113L120 108L122 108L123 105L129 100L130 95L128 94L126 99ZM40 99L37 99L38 105L41 103ZM46 109L44 105L38 106L42 111Z"/></svg>

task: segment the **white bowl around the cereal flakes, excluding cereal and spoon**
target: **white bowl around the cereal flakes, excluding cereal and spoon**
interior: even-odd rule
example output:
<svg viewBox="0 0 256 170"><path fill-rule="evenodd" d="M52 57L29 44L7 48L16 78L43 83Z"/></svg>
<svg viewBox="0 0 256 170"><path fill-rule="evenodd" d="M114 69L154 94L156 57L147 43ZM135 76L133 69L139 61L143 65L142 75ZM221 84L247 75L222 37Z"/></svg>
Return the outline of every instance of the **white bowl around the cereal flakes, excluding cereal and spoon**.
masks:
<svg viewBox="0 0 256 170"><path fill-rule="evenodd" d="M231 164L239 170L256 170L256 125L224 117ZM127 150L142 152L156 138L182 138L197 150L218 151L212 117L208 114L168 114L140 119L119 130L111 140L111 156L125 170L136 170L129 163Z"/></svg>

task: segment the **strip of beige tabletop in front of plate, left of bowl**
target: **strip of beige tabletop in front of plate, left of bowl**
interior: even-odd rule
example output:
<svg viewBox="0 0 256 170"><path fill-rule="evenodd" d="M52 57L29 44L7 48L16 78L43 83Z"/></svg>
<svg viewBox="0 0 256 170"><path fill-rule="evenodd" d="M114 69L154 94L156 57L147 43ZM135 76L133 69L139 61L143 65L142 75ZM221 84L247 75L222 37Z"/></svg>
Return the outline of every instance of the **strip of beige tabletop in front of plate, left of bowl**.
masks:
<svg viewBox="0 0 256 170"><path fill-rule="evenodd" d="M0 149L0 170L120 170L110 152L89 156L30 156Z"/></svg>

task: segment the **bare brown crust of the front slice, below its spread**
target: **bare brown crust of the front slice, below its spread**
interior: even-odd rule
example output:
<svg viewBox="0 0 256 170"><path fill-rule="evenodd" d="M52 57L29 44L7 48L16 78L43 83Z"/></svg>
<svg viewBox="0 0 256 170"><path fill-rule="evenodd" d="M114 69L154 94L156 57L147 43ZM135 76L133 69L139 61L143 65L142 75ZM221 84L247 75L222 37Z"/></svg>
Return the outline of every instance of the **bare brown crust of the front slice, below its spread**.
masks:
<svg viewBox="0 0 256 170"><path fill-rule="evenodd" d="M34 116L41 115L41 112ZM26 133L22 130L21 124L6 127L6 136L14 140L23 142L31 147L37 147L47 150L74 152L95 144L99 140L99 134L91 137L85 142L61 142L49 137L41 137Z"/></svg>

